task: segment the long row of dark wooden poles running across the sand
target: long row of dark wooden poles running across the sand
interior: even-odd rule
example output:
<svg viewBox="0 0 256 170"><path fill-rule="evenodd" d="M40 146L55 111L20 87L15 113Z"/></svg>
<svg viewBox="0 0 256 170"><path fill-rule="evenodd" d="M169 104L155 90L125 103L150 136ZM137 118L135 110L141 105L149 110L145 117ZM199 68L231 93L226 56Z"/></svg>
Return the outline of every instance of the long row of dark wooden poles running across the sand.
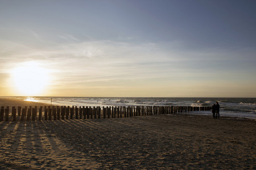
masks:
<svg viewBox="0 0 256 170"><path fill-rule="evenodd" d="M189 111L209 111L211 107L187 106L129 106L129 107L1 107L0 121L41 121L89 118L119 118L153 114L185 114ZM11 116L10 116L11 113ZM18 114L17 114L18 113ZM11 121L11 119L10 119Z"/></svg>

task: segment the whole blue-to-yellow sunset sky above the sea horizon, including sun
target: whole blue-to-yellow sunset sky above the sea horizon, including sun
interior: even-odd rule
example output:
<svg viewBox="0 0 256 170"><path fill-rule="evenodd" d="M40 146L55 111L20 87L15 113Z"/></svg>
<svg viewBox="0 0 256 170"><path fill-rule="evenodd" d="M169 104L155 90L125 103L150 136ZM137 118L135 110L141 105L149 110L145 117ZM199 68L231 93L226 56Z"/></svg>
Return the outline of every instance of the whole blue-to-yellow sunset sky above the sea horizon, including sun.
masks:
<svg viewBox="0 0 256 170"><path fill-rule="evenodd" d="M254 0L0 0L0 96L256 97Z"/></svg>

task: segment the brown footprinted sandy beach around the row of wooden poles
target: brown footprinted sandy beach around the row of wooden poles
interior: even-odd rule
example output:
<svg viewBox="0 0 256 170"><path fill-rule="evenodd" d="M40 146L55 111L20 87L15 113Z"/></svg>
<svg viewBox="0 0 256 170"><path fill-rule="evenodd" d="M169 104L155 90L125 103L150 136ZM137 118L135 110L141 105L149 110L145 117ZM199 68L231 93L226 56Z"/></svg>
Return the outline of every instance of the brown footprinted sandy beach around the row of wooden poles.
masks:
<svg viewBox="0 0 256 170"><path fill-rule="evenodd" d="M0 169L256 168L253 120L154 115L10 121L0 122L0 134Z"/></svg>

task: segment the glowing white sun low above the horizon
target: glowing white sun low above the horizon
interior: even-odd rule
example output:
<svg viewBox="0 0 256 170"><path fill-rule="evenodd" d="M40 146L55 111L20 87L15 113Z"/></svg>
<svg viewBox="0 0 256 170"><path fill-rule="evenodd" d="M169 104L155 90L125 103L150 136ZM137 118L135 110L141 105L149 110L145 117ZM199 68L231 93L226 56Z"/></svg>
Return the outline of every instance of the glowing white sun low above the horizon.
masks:
<svg viewBox="0 0 256 170"><path fill-rule="evenodd" d="M26 62L12 71L15 87L24 96L42 94L48 83L48 70L36 62Z"/></svg>

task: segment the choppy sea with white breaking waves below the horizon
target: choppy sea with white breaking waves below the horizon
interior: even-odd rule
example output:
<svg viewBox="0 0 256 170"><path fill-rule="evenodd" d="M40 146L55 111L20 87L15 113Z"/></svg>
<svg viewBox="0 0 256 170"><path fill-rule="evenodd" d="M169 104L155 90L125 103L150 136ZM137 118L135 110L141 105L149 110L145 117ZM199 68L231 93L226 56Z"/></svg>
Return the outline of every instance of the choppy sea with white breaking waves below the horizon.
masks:
<svg viewBox="0 0 256 170"><path fill-rule="evenodd" d="M6 97L1 97L6 98ZM196 106L211 107L216 101L220 104L220 117L249 118L256 121L256 98L230 97L7 97L10 99L35 101L65 106ZM191 115L211 116L211 111L188 112Z"/></svg>

